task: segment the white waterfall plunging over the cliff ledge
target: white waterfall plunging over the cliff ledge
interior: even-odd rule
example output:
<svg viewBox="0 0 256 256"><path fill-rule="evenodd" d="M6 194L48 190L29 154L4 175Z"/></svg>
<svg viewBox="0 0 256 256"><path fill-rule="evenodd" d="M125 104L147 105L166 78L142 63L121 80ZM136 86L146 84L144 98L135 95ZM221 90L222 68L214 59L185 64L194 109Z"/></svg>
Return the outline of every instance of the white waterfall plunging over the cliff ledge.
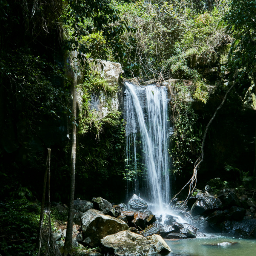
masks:
<svg viewBox="0 0 256 256"><path fill-rule="evenodd" d="M169 201L168 100L165 87L125 82L126 177L154 211Z"/></svg>

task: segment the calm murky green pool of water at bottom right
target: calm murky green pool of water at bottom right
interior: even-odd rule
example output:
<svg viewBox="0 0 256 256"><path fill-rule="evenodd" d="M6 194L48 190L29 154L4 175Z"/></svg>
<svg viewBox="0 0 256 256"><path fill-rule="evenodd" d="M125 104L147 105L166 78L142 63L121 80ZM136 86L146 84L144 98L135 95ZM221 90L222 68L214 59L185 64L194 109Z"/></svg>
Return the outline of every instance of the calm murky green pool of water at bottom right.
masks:
<svg viewBox="0 0 256 256"><path fill-rule="evenodd" d="M255 239L235 239L228 237L181 239L165 241L172 252L168 256L256 256ZM237 242L226 246L207 246L222 242Z"/></svg>

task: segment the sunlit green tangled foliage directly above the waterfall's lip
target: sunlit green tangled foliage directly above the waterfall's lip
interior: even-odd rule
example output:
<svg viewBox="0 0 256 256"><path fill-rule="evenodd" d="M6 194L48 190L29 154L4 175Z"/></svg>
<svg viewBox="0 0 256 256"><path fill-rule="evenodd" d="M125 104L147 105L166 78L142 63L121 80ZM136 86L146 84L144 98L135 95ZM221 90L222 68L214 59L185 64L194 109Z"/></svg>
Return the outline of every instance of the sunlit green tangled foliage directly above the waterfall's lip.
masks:
<svg viewBox="0 0 256 256"><path fill-rule="evenodd" d="M120 16L135 28L134 33L120 36L124 54L119 61L125 74L197 80L195 68L215 65L220 49L230 42L220 23L227 5L225 1L212 3L209 12L203 2L114 1Z"/></svg>

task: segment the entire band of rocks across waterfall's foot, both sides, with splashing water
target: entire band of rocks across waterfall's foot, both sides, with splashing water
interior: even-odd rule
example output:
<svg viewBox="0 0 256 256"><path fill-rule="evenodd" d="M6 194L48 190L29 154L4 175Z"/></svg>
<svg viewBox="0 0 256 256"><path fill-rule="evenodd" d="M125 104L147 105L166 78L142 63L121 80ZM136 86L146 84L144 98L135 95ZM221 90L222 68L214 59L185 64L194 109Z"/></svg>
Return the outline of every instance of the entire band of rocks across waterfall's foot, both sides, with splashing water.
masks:
<svg viewBox="0 0 256 256"><path fill-rule="evenodd" d="M68 210L65 205L54 207L62 214ZM254 201L245 195L239 198L232 189L223 189L214 196L209 185L185 205L173 202L162 215L154 215L136 195L127 205L112 205L101 197L91 202L77 199L74 209L73 245L89 255L167 253L172 248L164 240L206 237L205 233L256 237ZM54 234L59 247L64 244L65 234L65 225Z"/></svg>

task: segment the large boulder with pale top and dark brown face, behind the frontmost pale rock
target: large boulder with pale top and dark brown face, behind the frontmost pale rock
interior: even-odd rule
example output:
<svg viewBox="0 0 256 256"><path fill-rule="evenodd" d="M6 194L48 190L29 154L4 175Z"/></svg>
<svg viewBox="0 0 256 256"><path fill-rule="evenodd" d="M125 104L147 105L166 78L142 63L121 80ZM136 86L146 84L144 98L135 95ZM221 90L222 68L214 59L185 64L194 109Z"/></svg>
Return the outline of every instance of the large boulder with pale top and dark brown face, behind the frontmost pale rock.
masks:
<svg viewBox="0 0 256 256"><path fill-rule="evenodd" d="M100 239L119 231L128 229L128 225L120 219L103 215L101 211L90 209L82 216L83 243L95 247Z"/></svg>

